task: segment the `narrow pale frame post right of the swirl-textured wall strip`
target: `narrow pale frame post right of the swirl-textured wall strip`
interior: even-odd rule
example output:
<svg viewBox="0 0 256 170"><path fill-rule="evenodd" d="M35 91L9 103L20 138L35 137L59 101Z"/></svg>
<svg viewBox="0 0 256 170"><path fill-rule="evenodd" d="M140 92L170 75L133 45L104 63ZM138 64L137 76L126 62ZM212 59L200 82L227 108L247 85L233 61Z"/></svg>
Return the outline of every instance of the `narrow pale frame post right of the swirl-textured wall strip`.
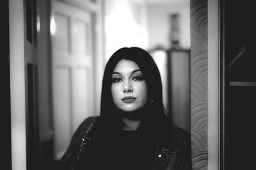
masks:
<svg viewBox="0 0 256 170"><path fill-rule="evenodd" d="M208 170L221 160L221 18L220 1L208 0Z"/></svg>

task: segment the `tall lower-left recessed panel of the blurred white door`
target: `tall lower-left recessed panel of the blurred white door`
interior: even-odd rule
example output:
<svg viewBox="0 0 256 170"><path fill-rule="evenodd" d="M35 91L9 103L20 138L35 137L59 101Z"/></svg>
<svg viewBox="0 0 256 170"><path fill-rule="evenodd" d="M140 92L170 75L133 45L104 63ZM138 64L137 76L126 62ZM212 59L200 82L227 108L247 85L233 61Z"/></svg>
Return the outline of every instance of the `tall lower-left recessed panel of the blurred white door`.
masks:
<svg viewBox="0 0 256 170"><path fill-rule="evenodd" d="M66 149L71 137L71 72L69 68L56 68L54 70L54 130L55 151Z"/></svg>

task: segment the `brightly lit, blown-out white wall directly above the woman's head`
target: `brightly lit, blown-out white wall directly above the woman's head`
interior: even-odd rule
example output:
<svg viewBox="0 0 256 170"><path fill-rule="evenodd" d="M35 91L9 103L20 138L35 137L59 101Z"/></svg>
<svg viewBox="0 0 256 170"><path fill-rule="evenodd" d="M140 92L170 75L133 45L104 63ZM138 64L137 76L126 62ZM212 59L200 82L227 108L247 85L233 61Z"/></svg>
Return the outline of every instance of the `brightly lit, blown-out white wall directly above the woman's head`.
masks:
<svg viewBox="0 0 256 170"><path fill-rule="evenodd" d="M106 61L121 47L147 48L145 4L140 0L104 1Z"/></svg>

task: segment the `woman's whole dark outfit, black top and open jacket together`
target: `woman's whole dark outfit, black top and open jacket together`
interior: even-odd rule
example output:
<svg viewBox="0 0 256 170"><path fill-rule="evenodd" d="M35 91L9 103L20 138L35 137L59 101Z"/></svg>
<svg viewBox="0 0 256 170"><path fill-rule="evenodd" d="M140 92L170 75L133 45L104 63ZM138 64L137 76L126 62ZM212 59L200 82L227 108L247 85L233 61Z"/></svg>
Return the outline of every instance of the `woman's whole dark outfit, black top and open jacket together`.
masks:
<svg viewBox="0 0 256 170"><path fill-rule="evenodd" d="M60 169L191 170L190 135L170 126L161 143L143 130L100 133L98 117L83 121L60 160ZM99 124L99 123L98 123Z"/></svg>

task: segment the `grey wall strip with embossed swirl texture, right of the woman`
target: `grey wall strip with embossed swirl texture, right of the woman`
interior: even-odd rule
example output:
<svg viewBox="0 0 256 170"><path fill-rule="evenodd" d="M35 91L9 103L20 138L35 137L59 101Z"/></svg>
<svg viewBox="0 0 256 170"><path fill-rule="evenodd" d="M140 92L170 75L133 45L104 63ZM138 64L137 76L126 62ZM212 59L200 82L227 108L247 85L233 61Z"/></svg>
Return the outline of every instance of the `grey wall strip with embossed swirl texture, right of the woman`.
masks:
<svg viewBox="0 0 256 170"><path fill-rule="evenodd" d="M208 164L207 17L207 0L191 0L191 149L194 170L207 169Z"/></svg>

